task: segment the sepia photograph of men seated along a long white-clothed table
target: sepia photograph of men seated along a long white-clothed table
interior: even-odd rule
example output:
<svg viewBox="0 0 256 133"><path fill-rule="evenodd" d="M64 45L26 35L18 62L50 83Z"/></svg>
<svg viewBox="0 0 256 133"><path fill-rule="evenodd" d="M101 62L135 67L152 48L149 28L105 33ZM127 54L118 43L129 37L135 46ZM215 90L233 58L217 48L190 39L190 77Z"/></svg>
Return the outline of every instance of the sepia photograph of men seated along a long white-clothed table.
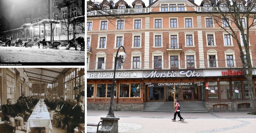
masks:
<svg viewBox="0 0 256 133"><path fill-rule="evenodd" d="M84 68L0 68L0 132L84 132L84 88Z"/></svg>

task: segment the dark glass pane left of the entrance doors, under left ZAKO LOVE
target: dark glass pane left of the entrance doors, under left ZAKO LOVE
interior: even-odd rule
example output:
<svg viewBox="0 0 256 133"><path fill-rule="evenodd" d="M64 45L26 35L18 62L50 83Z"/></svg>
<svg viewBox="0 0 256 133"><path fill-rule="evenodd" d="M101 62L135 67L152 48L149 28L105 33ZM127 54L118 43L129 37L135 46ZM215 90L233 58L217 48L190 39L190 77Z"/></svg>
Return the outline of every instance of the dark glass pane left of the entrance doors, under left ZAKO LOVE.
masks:
<svg viewBox="0 0 256 133"><path fill-rule="evenodd" d="M164 87L158 84L149 86L149 100L164 100Z"/></svg>

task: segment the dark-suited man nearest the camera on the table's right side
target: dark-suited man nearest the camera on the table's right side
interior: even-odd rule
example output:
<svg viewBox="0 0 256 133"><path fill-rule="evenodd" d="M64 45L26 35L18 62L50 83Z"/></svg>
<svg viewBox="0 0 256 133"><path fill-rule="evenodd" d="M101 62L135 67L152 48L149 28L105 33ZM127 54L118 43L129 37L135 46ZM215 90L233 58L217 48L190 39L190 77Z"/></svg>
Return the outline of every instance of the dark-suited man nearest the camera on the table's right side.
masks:
<svg viewBox="0 0 256 133"><path fill-rule="evenodd" d="M69 115L67 115L68 121L68 131L71 131L71 133L74 132L74 128L80 123L81 120L81 106L77 105L77 100L73 100L74 106L70 108Z"/></svg>

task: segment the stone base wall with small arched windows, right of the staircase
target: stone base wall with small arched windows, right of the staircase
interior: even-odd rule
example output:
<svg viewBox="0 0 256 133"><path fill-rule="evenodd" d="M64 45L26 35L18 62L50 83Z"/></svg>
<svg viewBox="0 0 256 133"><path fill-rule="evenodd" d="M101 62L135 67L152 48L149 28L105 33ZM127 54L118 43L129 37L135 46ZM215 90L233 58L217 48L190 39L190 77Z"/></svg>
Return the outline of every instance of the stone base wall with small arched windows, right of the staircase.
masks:
<svg viewBox="0 0 256 133"><path fill-rule="evenodd" d="M237 111L249 111L250 109L238 109L238 104L241 103L250 103L250 101L218 101L218 102L209 102L209 101L204 101L205 107L207 109L207 111L209 112L237 112ZM228 105L228 109L227 110L213 110L213 105L217 105L217 104L225 104Z"/></svg>

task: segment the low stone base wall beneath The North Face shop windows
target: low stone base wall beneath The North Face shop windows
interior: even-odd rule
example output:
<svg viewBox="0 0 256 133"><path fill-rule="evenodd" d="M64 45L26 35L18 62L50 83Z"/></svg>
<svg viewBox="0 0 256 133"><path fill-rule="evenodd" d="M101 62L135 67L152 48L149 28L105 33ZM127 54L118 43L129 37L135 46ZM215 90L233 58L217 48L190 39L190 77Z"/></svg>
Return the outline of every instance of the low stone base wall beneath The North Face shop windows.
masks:
<svg viewBox="0 0 256 133"><path fill-rule="evenodd" d="M144 103L115 103L114 111L143 111ZM87 110L108 110L109 103L87 103Z"/></svg>

